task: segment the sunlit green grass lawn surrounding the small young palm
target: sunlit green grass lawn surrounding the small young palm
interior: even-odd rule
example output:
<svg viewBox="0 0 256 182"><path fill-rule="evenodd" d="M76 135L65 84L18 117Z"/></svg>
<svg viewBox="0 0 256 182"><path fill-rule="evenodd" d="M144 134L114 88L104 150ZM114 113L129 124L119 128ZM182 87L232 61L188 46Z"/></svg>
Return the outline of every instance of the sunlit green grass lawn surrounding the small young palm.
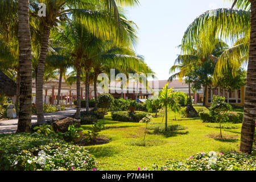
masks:
<svg viewBox="0 0 256 182"><path fill-rule="evenodd" d="M205 107L196 107L196 109ZM237 139L218 140L207 137L208 134L218 134L219 129L207 127L200 118L181 118L168 112L168 125L179 124L184 130L171 131L165 134L154 134L148 130L146 142L148 146L138 146L144 137L146 124L112 121L110 113L105 117L105 130L100 132L111 139L110 143L88 146L86 149L96 156L100 169L104 170L137 170L138 167L150 167L156 163L163 165L169 159L185 160L197 152L238 150L242 124L236 124L235 129L223 129L222 133L237 135ZM162 117L154 118L154 124L162 123ZM164 123L163 123L164 125ZM84 132L90 125L83 125ZM148 125L148 127L152 127Z"/></svg>

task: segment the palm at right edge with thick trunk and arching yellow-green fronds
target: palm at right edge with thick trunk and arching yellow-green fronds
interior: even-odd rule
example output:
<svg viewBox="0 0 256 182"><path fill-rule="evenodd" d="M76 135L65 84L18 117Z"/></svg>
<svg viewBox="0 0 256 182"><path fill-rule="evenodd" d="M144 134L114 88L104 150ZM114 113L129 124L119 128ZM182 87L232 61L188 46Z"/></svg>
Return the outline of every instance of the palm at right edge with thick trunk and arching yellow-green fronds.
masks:
<svg viewBox="0 0 256 182"><path fill-rule="evenodd" d="M256 110L256 85L254 79L256 76L256 58L254 53L256 47L256 27L254 26L256 21L256 2L238 0L234 1L232 7L234 7L235 4L238 10L210 10L196 18L185 32L183 45L189 47L189 44L193 44L192 42L196 41L198 35L204 31L207 31L209 34L209 42L211 42L213 38L215 39L220 36L222 38L237 40L237 44L228 51L228 53L233 56L233 59L230 60L233 64L229 65L237 66L237 63L242 63L243 60L248 61L240 151L250 154L253 146L256 119L256 113L253 112ZM239 40L242 41L240 42ZM246 57L249 59L247 60Z"/></svg>

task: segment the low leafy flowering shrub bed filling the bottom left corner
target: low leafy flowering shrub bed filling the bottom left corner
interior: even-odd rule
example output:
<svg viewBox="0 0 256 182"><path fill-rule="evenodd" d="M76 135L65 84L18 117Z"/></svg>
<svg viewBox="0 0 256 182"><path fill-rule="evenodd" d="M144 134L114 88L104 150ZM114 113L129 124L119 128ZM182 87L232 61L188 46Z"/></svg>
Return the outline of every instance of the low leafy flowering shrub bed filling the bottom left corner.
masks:
<svg viewBox="0 0 256 182"><path fill-rule="evenodd" d="M0 170L95 170L84 147L38 133L0 135Z"/></svg>

